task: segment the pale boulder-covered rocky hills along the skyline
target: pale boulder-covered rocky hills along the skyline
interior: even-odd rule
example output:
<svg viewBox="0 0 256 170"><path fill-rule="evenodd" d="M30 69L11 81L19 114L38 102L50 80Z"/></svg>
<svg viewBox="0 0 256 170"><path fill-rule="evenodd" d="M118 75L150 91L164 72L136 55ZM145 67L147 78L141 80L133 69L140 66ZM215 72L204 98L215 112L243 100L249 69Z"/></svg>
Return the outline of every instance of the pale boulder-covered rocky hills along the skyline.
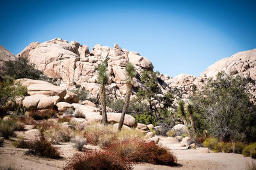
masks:
<svg viewBox="0 0 256 170"><path fill-rule="evenodd" d="M3 51L3 50L1 50ZM13 55L10 54L10 56ZM97 85L97 66L109 57L108 90L111 97L124 97L125 95L125 65L132 62L136 67L138 76L134 78L132 92L135 94L142 84L140 73L143 69L153 70L154 66L150 60L138 52L132 52L114 45L95 45L92 51L87 45L81 45L77 41L70 43L61 38L52 39L44 43L33 42L17 57L28 58L35 66L51 78L62 79L61 87L65 89L74 88L74 84L81 85L97 96L99 85ZM2 57L1 57L2 58ZM256 80L256 49L238 52L231 57L221 59L209 66L199 77L189 74L179 74L174 78L159 74L159 88L163 91L171 91L177 98L188 99L193 95L195 89L201 89L207 78L216 76L219 71L240 74L248 80ZM248 90L256 99L255 84L248 83Z"/></svg>

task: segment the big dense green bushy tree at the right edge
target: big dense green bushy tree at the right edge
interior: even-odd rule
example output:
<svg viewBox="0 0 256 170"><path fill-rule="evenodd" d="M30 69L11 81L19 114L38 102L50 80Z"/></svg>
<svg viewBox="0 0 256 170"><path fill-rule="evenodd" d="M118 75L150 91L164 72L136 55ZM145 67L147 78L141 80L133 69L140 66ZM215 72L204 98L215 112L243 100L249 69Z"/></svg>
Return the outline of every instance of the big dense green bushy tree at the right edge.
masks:
<svg viewBox="0 0 256 170"><path fill-rule="evenodd" d="M256 108L246 92L246 80L224 72L209 79L192 98L196 112L196 131L207 130L225 140L256 140ZM199 117L199 118L198 118Z"/></svg>

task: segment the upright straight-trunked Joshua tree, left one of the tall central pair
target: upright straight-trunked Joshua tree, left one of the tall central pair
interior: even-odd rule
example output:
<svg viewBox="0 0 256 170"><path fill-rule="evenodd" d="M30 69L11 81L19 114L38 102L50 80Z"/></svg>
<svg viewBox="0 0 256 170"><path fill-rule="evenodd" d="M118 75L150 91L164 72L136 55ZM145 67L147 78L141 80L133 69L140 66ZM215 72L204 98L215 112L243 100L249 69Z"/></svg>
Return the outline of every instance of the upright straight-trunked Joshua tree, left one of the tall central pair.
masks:
<svg viewBox="0 0 256 170"><path fill-rule="evenodd" d="M107 120L107 110L106 110L106 85L108 85L108 73L106 71L108 65L107 62L102 62L102 64L98 67L98 80L97 82L100 84L100 103L101 103L101 111L103 117L103 124L108 124Z"/></svg>

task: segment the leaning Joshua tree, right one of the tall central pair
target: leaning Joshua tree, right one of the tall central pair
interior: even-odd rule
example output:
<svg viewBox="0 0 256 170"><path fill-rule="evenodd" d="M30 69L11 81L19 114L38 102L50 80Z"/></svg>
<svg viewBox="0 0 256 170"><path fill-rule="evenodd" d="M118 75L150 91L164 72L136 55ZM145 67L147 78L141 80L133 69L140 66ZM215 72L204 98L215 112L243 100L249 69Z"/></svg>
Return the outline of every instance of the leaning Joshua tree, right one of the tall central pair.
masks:
<svg viewBox="0 0 256 170"><path fill-rule="evenodd" d="M127 80L126 80L126 95L125 95L125 104L124 104L124 108L122 111L122 115L120 117L120 121L119 121L119 125L118 125L118 131L121 131L123 124L124 124L124 117L125 114L127 113L128 107L129 107L129 103L130 103L130 97L131 97L131 92L132 92L132 78L134 78L137 74L137 72L134 69L134 66L131 64L131 62L128 62L126 64L125 67L125 72L128 76Z"/></svg>

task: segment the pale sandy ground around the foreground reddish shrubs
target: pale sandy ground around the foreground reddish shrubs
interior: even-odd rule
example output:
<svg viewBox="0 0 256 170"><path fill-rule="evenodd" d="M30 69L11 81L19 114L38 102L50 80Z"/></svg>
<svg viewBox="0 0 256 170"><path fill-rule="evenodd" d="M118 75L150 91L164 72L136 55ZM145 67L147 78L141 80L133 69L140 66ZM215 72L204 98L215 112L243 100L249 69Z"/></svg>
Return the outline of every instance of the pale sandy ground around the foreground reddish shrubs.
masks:
<svg viewBox="0 0 256 170"><path fill-rule="evenodd" d="M13 138L15 139L15 138ZM163 138L162 138L163 139ZM62 169L67 158L77 152L70 143L56 145L60 148L62 159L45 159L33 155L25 155L27 149L15 148L12 140L5 140L4 147L0 147L0 169L14 167L15 169ZM161 141L160 141L161 143ZM179 144L164 144L178 158L178 167L158 166L152 164L138 164L134 169L246 169L246 162L251 162L250 157L243 157L234 153L200 153L200 148L180 148ZM97 147L86 145L84 149L95 150ZM256 162L256 160L253 160Z"/></svg>

